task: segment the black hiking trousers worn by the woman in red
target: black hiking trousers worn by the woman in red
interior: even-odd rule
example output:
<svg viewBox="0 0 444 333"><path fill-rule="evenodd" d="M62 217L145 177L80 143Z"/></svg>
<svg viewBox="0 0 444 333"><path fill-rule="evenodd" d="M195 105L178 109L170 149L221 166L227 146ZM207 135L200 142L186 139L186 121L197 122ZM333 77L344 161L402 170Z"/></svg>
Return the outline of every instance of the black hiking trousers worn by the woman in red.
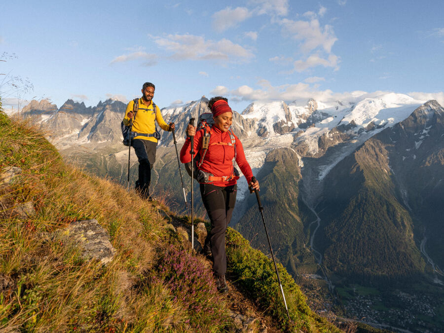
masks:
<svg viewBox="0 0 444 333"><path fill-rule="evenodd" d="M222 277L226 273L225 231L236 203L237 185L200 184L200 194L211 222L204 248L211 248L214 274Z"/></svg>

